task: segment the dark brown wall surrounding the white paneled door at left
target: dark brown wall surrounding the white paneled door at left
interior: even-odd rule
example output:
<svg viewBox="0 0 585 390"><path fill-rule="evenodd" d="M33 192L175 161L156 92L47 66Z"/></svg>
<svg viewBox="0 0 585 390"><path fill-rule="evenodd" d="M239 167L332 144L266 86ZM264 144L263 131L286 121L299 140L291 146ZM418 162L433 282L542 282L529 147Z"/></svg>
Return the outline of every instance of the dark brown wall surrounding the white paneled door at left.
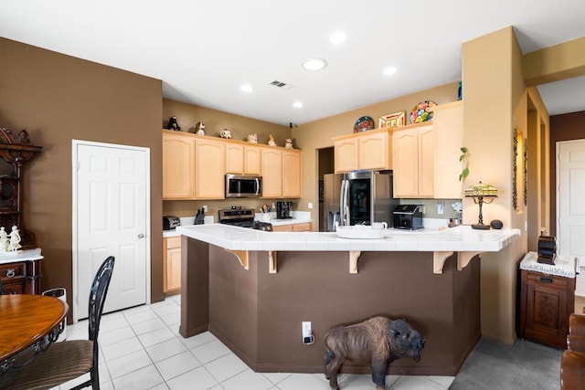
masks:
<svg viewBox="0 0 585 390"><path fill-rule="evenodd" d="M152 300L161 300L161 81L5 38L0 53L0 125L43 147L26 166L23 205L45 256L42 289L65 287L71 305L71 141L109 142L150 148Z"/></svg>

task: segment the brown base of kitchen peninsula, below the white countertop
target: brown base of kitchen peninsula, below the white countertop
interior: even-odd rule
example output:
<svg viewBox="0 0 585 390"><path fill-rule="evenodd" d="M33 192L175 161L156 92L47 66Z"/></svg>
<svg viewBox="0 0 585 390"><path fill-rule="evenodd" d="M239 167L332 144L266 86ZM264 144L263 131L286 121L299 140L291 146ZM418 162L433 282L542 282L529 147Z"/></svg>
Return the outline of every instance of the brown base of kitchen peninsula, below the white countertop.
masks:
<svg viewBox="0 0 585 390"><path fill-rule="evenodd" d="M323 373L325 332L375 315L404 318L426 339L419 363L399 359L388 374L457 374L481 335L477 260L458 271L454 254L438 275L432 252L362 252L350 274L348 252L282 251L269 273L265 251L250 251L247 270L224 248L186 236L181 248L179 332L212 332L256 372ZM302 321L314 344L303 344Z"/></svg>

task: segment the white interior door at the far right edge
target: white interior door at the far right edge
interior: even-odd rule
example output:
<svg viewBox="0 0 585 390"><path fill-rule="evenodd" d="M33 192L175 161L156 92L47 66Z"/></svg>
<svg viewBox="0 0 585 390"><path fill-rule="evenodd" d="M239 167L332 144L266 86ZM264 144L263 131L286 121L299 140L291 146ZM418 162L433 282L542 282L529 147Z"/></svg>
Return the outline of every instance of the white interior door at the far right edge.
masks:
<svg viewBox="0 0 585 390"><path fill-rule="evenodd" d="M585 267L585 140L557 142L558 254L579 258ZM585 296L585 269L575 293Z"/></svg>

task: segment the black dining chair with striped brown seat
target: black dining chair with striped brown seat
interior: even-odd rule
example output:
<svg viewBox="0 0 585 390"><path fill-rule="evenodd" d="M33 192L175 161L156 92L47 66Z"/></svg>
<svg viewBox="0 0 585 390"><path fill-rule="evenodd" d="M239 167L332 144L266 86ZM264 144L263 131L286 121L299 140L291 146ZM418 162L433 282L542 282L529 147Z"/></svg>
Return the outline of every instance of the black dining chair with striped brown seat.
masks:
<svg viewBox="0 0 585 390"><path fill-rule="evenodd" d="M72 390L91 386L100 389L98 373L98 332L101 311L112 278L114 258L106 258L98 269L90 289L89 340L68 340L53 343L44 352L38 353L30 363L11 368L0 375L0 389L41 390L69 382L71 379L90 373L90 379Z"/></svg>

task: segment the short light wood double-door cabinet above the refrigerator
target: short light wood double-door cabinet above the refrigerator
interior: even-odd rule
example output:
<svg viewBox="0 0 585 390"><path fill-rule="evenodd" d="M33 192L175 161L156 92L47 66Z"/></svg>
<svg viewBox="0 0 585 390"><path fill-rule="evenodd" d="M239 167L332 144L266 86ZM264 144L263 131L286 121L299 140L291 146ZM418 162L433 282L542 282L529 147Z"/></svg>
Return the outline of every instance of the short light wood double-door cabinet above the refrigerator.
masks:
<svg viewBox="0 0 585 390"><path fill-rule="evenodd" d="M392 169L392 137L389 128L335 137L335 173L360 169Z"/></svg>

